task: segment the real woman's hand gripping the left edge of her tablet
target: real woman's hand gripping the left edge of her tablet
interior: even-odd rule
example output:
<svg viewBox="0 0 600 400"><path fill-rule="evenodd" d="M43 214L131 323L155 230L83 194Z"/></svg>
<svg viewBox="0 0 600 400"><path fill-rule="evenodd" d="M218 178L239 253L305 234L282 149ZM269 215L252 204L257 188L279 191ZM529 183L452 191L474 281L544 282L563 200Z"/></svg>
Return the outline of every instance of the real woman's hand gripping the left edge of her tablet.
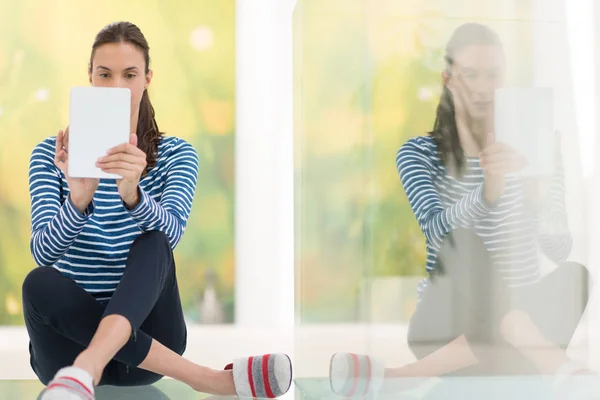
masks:
<svg viewBox="0 0 600 400"><path fill-rule="evenodd" d="M69 177L69 127L59 131L56 135L56 150L54 165L56 165L67 179L71 202L79 212L83 213L94 198L100 180L98 178L71 178Z"/></svg>

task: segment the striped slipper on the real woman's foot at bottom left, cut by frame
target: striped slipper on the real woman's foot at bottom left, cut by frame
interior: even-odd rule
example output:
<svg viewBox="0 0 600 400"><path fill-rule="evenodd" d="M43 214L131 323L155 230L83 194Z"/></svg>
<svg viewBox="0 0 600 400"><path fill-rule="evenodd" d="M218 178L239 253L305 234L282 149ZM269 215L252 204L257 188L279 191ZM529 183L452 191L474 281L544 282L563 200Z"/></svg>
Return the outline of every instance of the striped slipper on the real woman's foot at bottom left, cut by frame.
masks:
<svg viewBox="0 0 600 400"><path fill-rule="evenodd" d="M81 368L62 368L38 398L40 400L94 400L94 380Z"/></svg>

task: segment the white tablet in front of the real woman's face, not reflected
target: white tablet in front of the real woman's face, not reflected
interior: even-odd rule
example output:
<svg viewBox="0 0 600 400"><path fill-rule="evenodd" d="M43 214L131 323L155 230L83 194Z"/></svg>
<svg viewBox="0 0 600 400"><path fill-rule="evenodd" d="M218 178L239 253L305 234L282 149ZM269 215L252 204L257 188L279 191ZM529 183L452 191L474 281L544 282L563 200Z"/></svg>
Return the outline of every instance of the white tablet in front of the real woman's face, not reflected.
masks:
<svg viewBox="0 0 600 400"><path fill-rule="evenodd" d="M73 178L109 178L96 167L98 157L130 136L131 92L123 88L74 87L69 122L69 175Z"/></svg>

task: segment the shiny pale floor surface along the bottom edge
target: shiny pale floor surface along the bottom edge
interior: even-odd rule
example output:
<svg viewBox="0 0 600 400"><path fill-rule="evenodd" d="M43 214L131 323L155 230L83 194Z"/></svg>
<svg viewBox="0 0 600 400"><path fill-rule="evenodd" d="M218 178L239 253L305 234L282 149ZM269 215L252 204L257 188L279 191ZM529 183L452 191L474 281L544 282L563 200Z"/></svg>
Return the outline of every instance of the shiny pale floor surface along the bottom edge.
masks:
<svg viewBox="0 0 600 400"><path fill-rule="evenodd" d="M455 377L446 379L398 379L386 383L387 390L370 400L600 400L600 380L588 376L574 376L560 386L543 377ZM0 400L36 400L43 390L37 381L0 380ZM342 399L331 390L327 378L298 378L293 392L285 399L334 400ZM293 396L295 394L295 396ZM364 397L366 399L366 397ZM151 386L96 388L97 400L229 400L197 393L187 385L174 380L162 380ZM361 399L355 396L353 399Z"/></svg>

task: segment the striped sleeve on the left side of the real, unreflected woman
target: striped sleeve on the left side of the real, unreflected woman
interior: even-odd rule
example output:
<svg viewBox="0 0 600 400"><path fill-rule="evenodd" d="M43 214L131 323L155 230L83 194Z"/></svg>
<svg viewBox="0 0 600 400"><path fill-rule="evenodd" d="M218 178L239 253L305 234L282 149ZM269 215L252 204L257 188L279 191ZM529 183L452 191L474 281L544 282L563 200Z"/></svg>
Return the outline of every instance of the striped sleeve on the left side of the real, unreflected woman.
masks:
<svg viewBox="0 0 600 400"><path fill-rule="evenodd" d="M38 144L29 162L30 250L38 266L51 266L69 249L93 213L80 213L70 198L61 201L61 174L54 165L54 141Z"/></svg>

